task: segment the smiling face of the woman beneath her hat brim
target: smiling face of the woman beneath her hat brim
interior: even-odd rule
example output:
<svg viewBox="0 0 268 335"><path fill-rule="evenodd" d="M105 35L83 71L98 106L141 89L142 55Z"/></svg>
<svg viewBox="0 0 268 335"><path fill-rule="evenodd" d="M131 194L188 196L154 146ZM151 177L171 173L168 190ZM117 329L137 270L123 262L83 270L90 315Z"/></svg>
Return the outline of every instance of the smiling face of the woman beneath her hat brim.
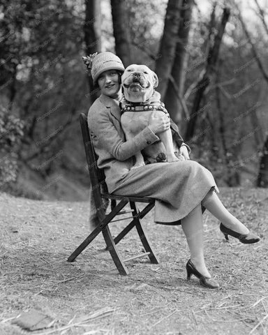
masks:
<svg viewBox="0 0 268 335"><path fill-rule="evenodd" d="M101 73L98 77L98 86L101 89L101 93L105 94L105 96L110 96L111 98L117 96L121 89L117 70L107 70Z"/></svg>

